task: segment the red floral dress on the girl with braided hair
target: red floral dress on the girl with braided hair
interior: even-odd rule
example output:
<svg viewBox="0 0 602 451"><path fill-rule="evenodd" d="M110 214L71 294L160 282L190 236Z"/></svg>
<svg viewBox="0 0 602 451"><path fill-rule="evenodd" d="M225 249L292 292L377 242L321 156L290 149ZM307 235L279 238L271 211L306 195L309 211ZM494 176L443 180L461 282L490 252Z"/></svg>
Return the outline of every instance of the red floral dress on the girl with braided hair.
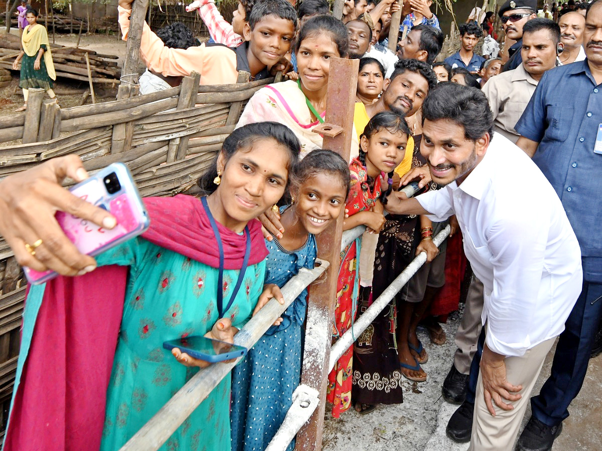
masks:
<svg viewBox="0 0 602 451"><path fill-rule="evenodd" d="M368 186L368 174L358 158L349 164L351 172L351 191L347 198L346 209L349 216L371 209L380 197L380 174L373 186ZM359 273L357 271L359 239L347 246L341 253L341 268L337 281L337 307L332 330L333 337L340 337L352 327L355 321L358 301ZM351 405L351 387L353 377L353 346L337 361L328 375L326 400L332 403L332 416L338 418Z"/></svg>

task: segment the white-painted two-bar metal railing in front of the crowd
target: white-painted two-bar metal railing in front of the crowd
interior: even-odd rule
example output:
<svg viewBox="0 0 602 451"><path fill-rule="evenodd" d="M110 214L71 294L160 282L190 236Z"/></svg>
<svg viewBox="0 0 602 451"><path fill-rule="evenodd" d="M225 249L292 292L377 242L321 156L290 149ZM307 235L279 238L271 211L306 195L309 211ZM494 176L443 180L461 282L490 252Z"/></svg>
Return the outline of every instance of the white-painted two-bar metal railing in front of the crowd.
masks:
<svg viewBox="0 0 602 451"><path fill-rule="evenodd" d="M414 182L406 186L402 191L412 197L418 191L418 183ZM366 230L364 225L358 225L343 233L341 251L362 235ZM433 242L437 247L447 238L450 233L449 225L438 233ZM353 330L348 330L341 336L330 350L329 369L332 370L337 360L349 349L359 336L371 324L376 316L391 302L391 299L408 283L410 278L416 274L418 269L426 262L426 253L420 253L408 265L408 267L389 285L376 301L362 314L353 325ZM261 338L265 331L278 319L289 305L309 286L314 280L326 271L330 263L324 260L316 260L314 269L302 268L299 274L291 278L284 287L284 305L279 304L276 299L270 299L259 312L234 337L234 343L245 348L252 348ZM211 393L211 390L228 375L239 359L232 363L219 363L208 366L193 376L184 387L144 425L120 451L156 451L167 439L184 423L199 404ZM312 413L318 407L320 400L318 392L307 385L299 385L293 393L293 404L288 410L287 416L281 427L276 432L265 451L283 451L287 449L299 429L309 420Z"/></svg>

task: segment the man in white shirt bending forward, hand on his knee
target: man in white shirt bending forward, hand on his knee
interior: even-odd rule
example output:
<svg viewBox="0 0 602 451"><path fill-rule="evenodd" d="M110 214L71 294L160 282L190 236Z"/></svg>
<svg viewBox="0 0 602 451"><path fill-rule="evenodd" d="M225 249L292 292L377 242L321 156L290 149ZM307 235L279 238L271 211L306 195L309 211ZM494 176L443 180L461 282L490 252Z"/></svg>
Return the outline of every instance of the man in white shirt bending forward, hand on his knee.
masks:
<svg viewBox="0 0 602 451"><path fill-rule="evenodd" d="M480 363L477 354L471 367L476 394L469 391L452 420L459 414L473 423L474 410L469 451L510 451L545 355L581 291L579 244L538 167L506 138L493 137L481 91L451 83L431 90L420 151L433 181L447 186L409 200L396 192L386 209L458 218L464 251L485 287L485 328ZM536 189L512 189L524 180Z"/></svg>

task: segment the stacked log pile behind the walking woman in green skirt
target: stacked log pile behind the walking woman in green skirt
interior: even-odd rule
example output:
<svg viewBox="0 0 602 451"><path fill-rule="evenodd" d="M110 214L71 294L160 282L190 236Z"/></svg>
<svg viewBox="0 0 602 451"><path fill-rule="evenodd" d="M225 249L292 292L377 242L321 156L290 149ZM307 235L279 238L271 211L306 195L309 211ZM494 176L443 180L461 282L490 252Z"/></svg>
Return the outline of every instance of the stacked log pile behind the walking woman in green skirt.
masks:
<svg viewBox="0 0 602 451"><path fill-rule="evenodd" d="M13 61L21 51L17 35L2 34L0 43L0 69L12 69ZM85 55L90 60L90 72L94 83L119 83L121 69L116 55L98 54L95 51L51 44L52 61L57 76L88 81Z"/></svg>

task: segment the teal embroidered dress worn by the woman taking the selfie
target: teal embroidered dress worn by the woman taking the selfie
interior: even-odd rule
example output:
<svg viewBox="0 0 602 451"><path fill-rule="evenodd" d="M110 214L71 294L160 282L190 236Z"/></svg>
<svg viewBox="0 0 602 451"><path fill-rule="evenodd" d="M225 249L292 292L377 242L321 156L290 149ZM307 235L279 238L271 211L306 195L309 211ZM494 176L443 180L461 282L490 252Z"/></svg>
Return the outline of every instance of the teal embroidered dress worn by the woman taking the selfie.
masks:
<svg viewBox="0 0 602 451"><path fill-rule="evenodd" d="M198 371L178 363L163 349L163 342L211 330L219 319L219 271L141 238L107 251L97 260L99 265L130 266L101 444L101 451L115 451ZM264 273L265 262L246 269L240 290L224 314L235 327L243 327L250 318ZM225 304L238 274L224 271ZM228 451L230 385L228 375L160 450Z"/></svg>

